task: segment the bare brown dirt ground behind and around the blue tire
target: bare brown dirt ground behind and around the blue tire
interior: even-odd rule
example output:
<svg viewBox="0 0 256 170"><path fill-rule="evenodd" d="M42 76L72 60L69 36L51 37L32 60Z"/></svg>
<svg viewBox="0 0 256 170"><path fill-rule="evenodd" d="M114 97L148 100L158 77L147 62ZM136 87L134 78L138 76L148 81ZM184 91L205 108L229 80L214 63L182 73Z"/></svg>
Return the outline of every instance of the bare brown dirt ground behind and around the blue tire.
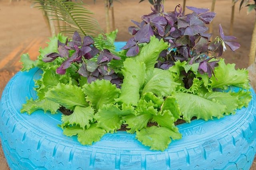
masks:
<svg viewBox="0 0 256 170"><path fill-rule="evenodd" d="M116 28L118 28L117 41L127 41L130 38L128 26L133 25L130 20L140 21L140 16L150 12L150 4L139 0L121 0L122 3L114 2ZM165 10L174 10L177 4L183 0L166 0ZM232 0L220 0L216 2L214 19L214 37L218 36L218 24L222 24L224 32L228 35L230 27ZM104 5L102 0L84 0L88 9L94 12L95 18L102 28L105 28ZM187 0L187 6L198 8L210 8L211 0ZM188 12L188 10L186 10ZM238 68L248 67L248 53L252 29L255 20L255 12L246 15L243 9L240 13L236 5L234 36L238 38L241 47L235 53L227 50L223 57L228 63L236 63ZM0 95L9 79L20 69L19 57L22 53L29 52L35 59L40 46L45 46L50 32L42 17L42 12L31 8L28 0L0 0ZM254 168L255 165L251 169ZM8 169L2 149L0 148L0 170Z"/></svg>

